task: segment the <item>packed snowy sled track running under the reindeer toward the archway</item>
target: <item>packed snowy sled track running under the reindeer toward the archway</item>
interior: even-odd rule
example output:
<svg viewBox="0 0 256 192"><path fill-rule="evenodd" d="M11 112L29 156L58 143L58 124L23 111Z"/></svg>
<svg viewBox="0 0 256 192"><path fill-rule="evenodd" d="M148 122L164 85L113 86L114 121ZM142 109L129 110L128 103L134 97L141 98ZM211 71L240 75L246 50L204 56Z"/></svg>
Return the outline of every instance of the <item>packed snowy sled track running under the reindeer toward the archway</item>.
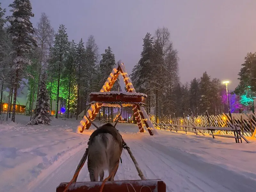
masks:
<svg viewBox="0 0 256 192"><path fill-rule="evenodd" d="M190 192L252 192L256 182L241 174L226 170L220 166L198 161L192 154L181 152L175 148L167 148L152 143L147 138L142 140L126 140L147 179L162 179L166 183L166 191ZM45 170L28 192L55 191L60 182L68 182L84 153L84 148L70 156L66 161L53 164ZM65 158L65 157L64 157ZM123 164L120 164L115 180L140 179L132 160L124 150ZM83 167L78 181L89 181L87 166ZM239 182L238 182L239 181Z"/></svg>

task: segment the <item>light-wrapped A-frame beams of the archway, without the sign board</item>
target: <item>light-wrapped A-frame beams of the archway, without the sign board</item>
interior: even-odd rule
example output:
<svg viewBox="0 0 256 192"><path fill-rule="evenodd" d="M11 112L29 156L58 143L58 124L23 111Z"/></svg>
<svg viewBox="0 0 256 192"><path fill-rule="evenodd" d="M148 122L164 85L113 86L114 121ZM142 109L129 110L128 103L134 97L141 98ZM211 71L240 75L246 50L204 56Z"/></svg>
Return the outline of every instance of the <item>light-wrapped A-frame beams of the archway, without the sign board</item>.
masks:
<svg viewBox="0 0 256 192"><path fill-rule="evenodd" d="M108 76L105 84L102 86L100 92L109 92L111 88L113 87L119 73L124 78L125 86L127 92L133 92L135 93L135 89L132 85L132 82L128 76L128 73L126 72L126 69L124 67L124 63L122 60L119 60L116 64L116 68L112 70L110 75ZM99 113L100 108L103 106L102 103L93 103L91 104L90 108L86 111L86 115L93 121L96 117L96 115ZM141 119L143 120L144 124L146 125L148 132L150 135L157 134L156 129L152 122L150 121L148 114L143 106L140 106L139 104L133 104L132 105L133 114L135 116L135 120L137 121L137 124L139 126L140 132L145 132ZM141 116L141 119L140 119ZM86 116L80 121L80 125L78 125L78 131L83 132L84 129L89 129L91 126L91 123L88 121Z"/></svg>

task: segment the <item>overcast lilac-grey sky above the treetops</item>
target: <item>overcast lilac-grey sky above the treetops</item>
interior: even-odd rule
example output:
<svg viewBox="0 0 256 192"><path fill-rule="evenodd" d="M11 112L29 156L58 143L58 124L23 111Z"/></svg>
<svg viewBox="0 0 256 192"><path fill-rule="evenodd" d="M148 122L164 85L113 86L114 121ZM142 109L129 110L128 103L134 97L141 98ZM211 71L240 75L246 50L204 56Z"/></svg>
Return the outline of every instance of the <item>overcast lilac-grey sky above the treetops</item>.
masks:
<svg viewBox="0 0 256 192"><path fill-rule="evenodd" d="M10 10L12 0L1 0ZM69 40L95 37L100 53L111 46L128 73L140 59L142 38L167 27L179 53L180 80L204 71L239 83L247 52L256 51L256 0L31 0L34 26L45 12L57 30L65 24ZM10 13L8 13L10 14Z"/></svg>

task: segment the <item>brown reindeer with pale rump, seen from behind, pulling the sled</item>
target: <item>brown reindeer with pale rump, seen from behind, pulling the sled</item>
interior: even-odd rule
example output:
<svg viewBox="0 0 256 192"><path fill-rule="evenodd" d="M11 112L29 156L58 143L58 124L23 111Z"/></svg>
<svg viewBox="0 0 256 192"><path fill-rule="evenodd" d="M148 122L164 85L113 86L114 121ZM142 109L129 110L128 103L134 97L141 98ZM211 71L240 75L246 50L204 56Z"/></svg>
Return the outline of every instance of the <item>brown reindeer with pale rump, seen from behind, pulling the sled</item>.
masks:
<svg viewBox="0 0 256 192"><path fill-rule="evenodd" d="M123 107L121 105L121 113L122 109ZM87 119L89 118L87 117ZM91 120L89 121L92 123ZM109 175L113 172L108 180L114 180L124 142L121 134L115 128L116 123L115 125L107 123L100 127L92 123L97 129L92 133L88 142L87 165L91 181L98 181L99 175L100 181L103 181L105 170L108 170Z"/></svg>

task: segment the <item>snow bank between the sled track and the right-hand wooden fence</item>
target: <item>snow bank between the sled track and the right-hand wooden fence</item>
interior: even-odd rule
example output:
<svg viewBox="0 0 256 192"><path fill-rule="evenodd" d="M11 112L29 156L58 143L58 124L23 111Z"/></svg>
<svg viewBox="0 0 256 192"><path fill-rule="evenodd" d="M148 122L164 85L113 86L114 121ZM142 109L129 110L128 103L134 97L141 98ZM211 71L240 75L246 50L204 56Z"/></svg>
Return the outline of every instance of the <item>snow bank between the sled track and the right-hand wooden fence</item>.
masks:
<svg viewBox="0 0 256 192"><path fill-rule="evenodd" d="M217 164L225 169L242 173L256 180L256 140L251 143L236 143L233 138L212 138L210 135L202 136L185 132L170 132L161 130L160 135L150 137L137 135L136 139L149 140L166 147L193 154L200 160ZM134 136L133 136L134 137Z"/></svg>

